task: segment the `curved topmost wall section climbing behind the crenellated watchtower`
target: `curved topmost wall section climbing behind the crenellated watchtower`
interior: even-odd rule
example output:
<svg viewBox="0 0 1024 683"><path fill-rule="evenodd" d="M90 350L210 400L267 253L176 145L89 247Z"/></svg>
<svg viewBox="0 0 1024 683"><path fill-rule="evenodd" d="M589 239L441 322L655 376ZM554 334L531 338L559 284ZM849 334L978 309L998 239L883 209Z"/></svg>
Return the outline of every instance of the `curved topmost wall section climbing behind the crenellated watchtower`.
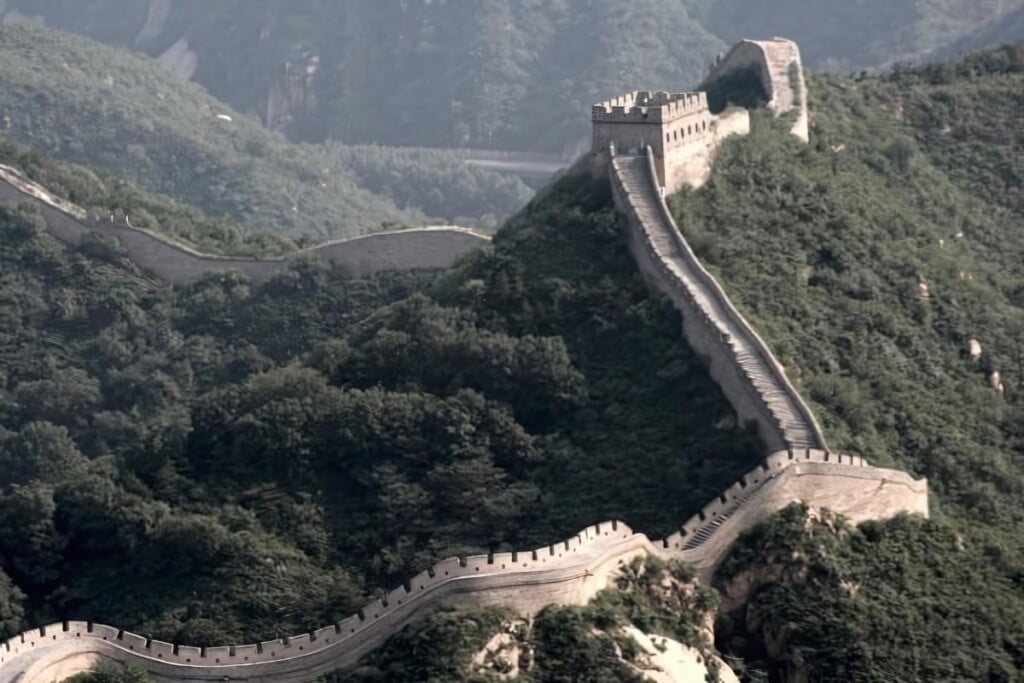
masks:
<svg viewBox="0 0 1024 683"><path fill-rule="evenodd" d="M768 106L775 116L797 111L792 132L807 142L810 139L810 118L800 47L784 38L740 41L722 59L712 65L700 89L707 90L715 81L748 70L758 75L768 94Z"/></svg>

